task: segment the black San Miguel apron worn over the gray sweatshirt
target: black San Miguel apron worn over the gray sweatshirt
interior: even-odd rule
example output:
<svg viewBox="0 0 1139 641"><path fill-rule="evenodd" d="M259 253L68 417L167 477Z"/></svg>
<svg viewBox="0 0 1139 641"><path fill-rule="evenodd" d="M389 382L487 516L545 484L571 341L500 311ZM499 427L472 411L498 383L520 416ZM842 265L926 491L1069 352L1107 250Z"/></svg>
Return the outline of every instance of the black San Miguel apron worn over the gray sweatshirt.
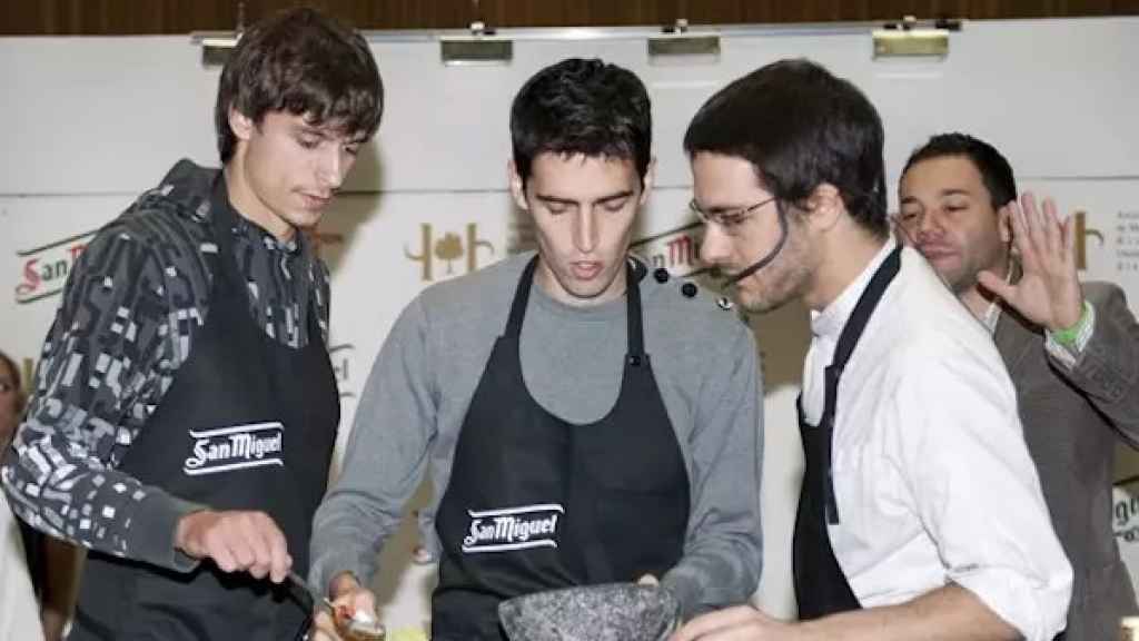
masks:
<svg viewBox="0 0 1139 641"><path fill-rule="evenodd" d="M644 350L633 267L621 393L605 417L576 425L543 409L522 376L518 338L536 260L470 401L440 503L433 641L502 640L503 599L659 577L683 553L688 473Z"/></svg>

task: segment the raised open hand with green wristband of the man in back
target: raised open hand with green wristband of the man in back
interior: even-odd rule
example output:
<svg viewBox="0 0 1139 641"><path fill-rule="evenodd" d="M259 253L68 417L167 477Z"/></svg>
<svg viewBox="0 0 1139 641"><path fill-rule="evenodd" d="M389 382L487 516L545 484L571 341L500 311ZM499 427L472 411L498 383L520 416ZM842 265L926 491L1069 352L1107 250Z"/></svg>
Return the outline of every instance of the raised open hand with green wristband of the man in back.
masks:
<svg viewBox="0 0 1139 641"><path fill-rule="evenodd" d="M1005 300L1027 320L1051 332L1073 327L1083 315L1083 291L1075 263L1074 218L1060 225L1056 203L1044 198L1043 209L1026 192L1021 206L1009 203L1013 241L1024 274L1008 284L992 271L977 274L977 282Z"/></svg>

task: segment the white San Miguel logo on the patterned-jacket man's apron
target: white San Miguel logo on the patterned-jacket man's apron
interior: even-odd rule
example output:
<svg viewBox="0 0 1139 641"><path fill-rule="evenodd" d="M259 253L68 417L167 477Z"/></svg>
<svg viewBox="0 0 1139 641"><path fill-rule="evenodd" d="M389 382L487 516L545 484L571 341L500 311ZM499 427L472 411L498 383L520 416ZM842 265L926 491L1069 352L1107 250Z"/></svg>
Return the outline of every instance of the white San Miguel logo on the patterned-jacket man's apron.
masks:
<svg viewBox="0 0 1139 641"><path fill-rule="evenodd" d="M182 464L191 477L262 465L285 465L285 425L278 421L216 430L189 430L194 455Z"/></svg>

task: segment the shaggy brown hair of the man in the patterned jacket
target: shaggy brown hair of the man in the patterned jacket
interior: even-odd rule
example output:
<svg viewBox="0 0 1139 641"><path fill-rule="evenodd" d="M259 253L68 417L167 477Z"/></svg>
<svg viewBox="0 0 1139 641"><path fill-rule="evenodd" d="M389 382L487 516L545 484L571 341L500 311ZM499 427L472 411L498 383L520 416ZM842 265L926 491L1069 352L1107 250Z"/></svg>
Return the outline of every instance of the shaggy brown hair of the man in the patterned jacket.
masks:
<svg viewBox="0 0 1139 641"><path fill-rule="evenodd" d="M230 108L255 123L285 111L371 138L384 112L384 84L358 33L313 9L288 9L249 27L221 72L214 128L223 163L237 147Z"/></svg>

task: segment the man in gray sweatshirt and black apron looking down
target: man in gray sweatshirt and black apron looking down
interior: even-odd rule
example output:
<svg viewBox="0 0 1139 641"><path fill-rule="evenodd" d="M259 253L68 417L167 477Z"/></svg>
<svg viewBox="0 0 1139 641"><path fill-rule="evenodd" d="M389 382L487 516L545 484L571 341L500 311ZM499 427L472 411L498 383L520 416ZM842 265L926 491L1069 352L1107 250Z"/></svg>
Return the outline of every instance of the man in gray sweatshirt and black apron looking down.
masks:
<svg viewBox="0 0 1139 641"><path fill-rule="evenodd" d="M510 131L538 251L403 310L317 513L310 581L374 610L376 555L429 470L436 641L502 639L503 599L646 575L687 615L744 602L761 563L756 348L728 305L629 254L653 184L645 86L564 60L522 88Z"/></svg>

